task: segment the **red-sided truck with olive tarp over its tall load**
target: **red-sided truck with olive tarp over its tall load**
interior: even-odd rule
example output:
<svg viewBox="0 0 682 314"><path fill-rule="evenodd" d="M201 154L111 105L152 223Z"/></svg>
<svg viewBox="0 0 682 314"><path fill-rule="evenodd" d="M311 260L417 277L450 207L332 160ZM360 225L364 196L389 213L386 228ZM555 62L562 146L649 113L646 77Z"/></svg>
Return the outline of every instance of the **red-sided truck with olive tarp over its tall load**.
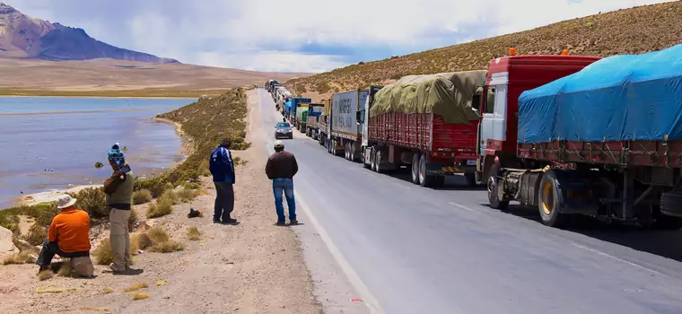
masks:
<svg viewBox="0 0 682 314"><path fill-rule="evenodd" d="M476 185L477 104L486 71L407 75L371 88L363 109L362 160L383 172L408 167L414 184L442 188L464 174ZM365 122L366 121L366 122Z"/></svg>

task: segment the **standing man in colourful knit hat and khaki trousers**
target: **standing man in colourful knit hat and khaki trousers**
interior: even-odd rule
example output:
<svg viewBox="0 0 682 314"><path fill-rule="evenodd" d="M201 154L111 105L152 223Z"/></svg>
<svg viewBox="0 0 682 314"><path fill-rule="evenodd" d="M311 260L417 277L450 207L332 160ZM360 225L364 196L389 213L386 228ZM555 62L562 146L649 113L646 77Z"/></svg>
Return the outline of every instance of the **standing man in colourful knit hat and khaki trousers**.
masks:
<svg viewBox="0 0 682 314"><path fill-rule="evenodd" d="M135 177L118 143L111 146L109 165L114 170L111 177L104 181L104 193L107 195L106 204L109 207L111 222L109 240L111 253L114 255L114 262L109 267L114 273L121 273L130 269L130 231L127 223L130 219Z"/></svg>

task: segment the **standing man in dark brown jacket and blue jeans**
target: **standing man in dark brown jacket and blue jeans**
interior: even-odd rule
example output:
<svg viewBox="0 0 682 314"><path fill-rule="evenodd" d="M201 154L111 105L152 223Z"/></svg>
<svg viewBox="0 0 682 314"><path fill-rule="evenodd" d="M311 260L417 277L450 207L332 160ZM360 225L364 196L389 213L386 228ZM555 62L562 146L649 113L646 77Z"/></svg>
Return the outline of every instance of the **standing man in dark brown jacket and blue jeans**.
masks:
<svg viewBox="0 0 682 314"><path fill-rule="evenodd" d="M285 225L284 205L282 205L282 192L286 197L286 205L289 207L289 221L297 224L296 202L293 199L293 176L298 172L298 163L293 153L284 152L284 142L275 141L275 153L267 158L267 179L272 180L272 189L275 194L275 209L277 211L277 225Z"/></svg>

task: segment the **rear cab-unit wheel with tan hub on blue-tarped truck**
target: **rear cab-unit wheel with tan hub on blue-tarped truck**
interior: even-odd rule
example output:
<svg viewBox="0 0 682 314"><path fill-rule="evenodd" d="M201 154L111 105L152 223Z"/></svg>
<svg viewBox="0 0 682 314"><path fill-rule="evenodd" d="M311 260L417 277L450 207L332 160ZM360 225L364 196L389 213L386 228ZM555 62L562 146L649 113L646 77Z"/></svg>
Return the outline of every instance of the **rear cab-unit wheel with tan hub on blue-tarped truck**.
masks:
<svg viewBox="0 0 682 314"><path fill-rule="evenodd" d="M555 171L547 170L542 176L538 201L538 210L543 224L549 227L559 227L564 223L565 215L560 213L560 208L564 205L564 197Z"/></svg>

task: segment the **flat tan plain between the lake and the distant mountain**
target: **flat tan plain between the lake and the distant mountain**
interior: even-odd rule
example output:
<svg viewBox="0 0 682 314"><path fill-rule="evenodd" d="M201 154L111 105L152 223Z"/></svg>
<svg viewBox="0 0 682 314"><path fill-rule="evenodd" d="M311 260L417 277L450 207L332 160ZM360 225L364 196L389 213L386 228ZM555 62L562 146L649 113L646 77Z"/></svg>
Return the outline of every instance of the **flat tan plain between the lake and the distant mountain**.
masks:
<svg viewBox="0 0 682 314"><path fill-rule="evenodd" d="M94 59L44 61L0 58L0 95L187 96L284 82L309 74L279 74L183 64Z"/></svg>

